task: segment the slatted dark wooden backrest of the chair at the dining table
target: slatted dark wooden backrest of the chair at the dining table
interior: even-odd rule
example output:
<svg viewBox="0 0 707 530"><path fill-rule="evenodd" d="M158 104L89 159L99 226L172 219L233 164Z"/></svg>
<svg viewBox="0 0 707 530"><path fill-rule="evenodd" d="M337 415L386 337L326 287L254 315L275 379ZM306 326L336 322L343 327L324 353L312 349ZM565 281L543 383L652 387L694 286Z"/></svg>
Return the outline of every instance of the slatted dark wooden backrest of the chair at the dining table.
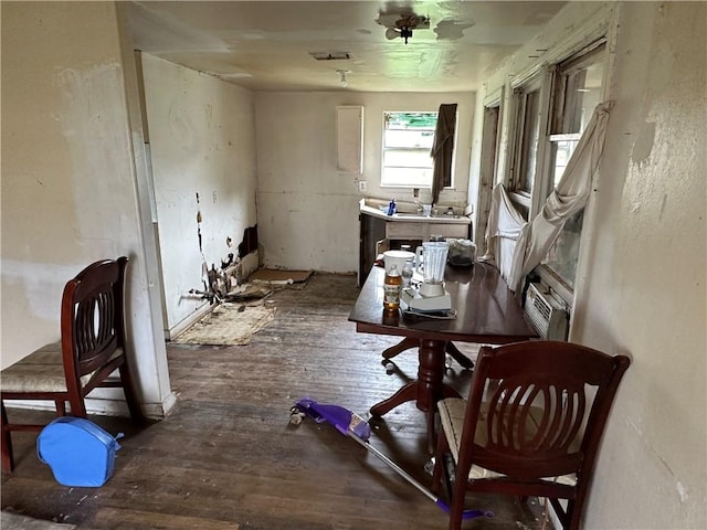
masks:
<svg viewBox="0 0 707 530"><path fill-rule="evenodd" d="M625 356L569 342L482 348L458 471L468 474L475 464L528 480L568 474L587 478L629 363Z"/></svg>

